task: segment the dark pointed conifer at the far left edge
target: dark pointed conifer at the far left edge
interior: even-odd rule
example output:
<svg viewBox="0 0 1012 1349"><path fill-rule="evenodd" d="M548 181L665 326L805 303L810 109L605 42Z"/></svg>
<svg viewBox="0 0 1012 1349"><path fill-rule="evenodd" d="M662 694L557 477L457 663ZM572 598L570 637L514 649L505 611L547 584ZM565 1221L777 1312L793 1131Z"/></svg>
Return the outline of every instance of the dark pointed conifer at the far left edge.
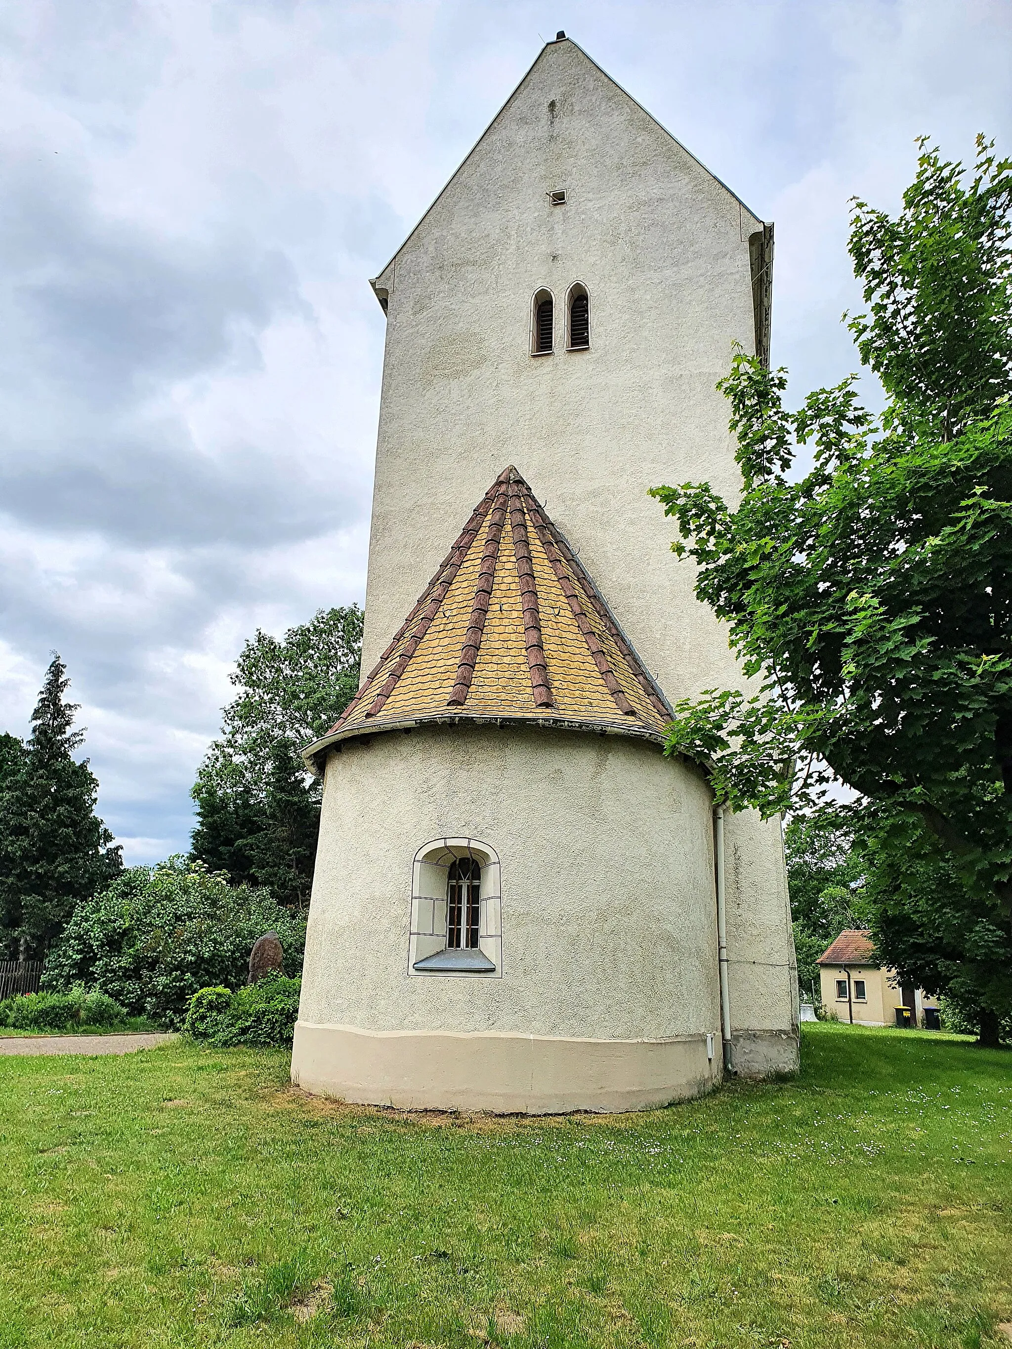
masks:
<svg viewBox="0 0 1012 1349"><path fill-rule="evenodd" d="M0 738L0 942L13 958L45 956L74 907L120 870L120 849L94 813L99 782L74 751L76 703L59 656L32 712L24 745Z"/></svg>

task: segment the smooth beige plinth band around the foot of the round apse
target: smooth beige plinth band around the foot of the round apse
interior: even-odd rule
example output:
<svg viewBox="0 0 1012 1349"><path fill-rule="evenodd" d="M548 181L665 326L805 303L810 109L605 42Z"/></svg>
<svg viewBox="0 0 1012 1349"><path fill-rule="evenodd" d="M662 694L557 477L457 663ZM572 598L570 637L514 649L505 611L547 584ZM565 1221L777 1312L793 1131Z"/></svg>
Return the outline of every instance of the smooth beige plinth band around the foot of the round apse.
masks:
<svg viewBox="0 0 1012 1349"><path fill-rule="evenodd" d="M706 1035L568 1040L479 1032L296 1025L291 1081L317 1095L409 1110L646 1110L702 1095L719 1079Z"/></svg>

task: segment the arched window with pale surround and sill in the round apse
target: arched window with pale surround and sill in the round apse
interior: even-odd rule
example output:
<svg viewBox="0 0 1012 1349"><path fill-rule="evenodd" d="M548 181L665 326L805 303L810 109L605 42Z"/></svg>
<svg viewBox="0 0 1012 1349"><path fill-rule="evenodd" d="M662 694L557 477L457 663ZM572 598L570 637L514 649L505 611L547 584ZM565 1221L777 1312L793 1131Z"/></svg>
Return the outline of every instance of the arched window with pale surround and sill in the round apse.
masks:
<svg viewBox="0 0 1012 1349"><path fill-rule="evenodd" d="M502 975L499 859L487 843L436 839L412 871L407 973Z"/></svg>

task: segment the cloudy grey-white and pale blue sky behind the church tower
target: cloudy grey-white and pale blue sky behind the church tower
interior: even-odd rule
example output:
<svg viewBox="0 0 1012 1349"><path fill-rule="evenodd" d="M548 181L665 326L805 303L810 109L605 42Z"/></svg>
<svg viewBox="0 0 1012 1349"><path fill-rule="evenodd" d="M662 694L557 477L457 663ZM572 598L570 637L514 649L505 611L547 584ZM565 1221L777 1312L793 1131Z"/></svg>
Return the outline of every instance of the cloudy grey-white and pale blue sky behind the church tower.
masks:
<svg viewBox="0 0 1012 1349"><path fill-rule="evenodd" d="M59 650L128 861L243 639L362 600L367 278L557 28L776 221L797 397L857 364L847 198L1012 152L1008 0L5 0L0 730Z"/></svg>

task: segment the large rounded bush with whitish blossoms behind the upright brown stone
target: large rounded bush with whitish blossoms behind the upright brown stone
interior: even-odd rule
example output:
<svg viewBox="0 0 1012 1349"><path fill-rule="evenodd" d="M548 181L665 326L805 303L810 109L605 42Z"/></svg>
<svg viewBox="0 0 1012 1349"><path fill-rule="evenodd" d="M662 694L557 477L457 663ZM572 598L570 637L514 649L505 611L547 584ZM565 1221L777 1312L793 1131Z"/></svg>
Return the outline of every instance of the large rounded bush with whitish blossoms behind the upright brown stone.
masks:
<svg viewBox="0 0 1012 1349"><path fill-rule="evenodd" d="M43 987L85 983L134 1016L179 1029L198 989L246 982L250 950L270 931L289 971L301 971L305 920L266 890L231 885L223 871L182 857L132 866L77 907L46 962Z"/></svg>

